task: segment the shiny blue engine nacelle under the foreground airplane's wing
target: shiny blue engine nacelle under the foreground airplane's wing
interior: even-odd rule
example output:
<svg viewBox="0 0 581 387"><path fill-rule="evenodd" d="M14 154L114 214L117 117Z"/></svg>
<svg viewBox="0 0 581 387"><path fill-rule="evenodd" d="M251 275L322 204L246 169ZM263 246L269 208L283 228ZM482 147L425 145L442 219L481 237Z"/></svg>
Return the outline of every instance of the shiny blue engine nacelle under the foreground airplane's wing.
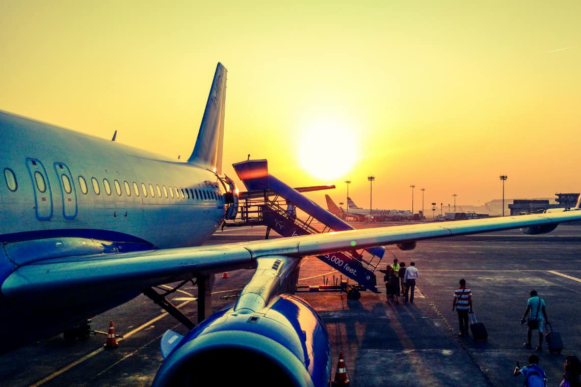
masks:
<svg viewBox="0 0 581 387"><path fill-rule="evenodd" d="M177 341L179 335L168 332L168 341ZM299 297L284 294L260 313L231 308L203 321L171 350L153 386L322 387L330 374L331 345L321 318Z"/></svg>

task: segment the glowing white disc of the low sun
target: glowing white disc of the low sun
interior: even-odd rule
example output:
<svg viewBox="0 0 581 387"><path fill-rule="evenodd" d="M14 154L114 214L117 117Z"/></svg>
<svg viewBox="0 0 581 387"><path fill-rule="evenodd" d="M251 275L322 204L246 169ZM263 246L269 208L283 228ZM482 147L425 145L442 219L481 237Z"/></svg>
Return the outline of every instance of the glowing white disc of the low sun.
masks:
<svg viewBox="0 0 581 387"><path fill-rule="evenodd" d="M329 119L304 126L298 149L304 171L325 181L340 178L351 171L359 153L354 130L345 122Z"/></svg>

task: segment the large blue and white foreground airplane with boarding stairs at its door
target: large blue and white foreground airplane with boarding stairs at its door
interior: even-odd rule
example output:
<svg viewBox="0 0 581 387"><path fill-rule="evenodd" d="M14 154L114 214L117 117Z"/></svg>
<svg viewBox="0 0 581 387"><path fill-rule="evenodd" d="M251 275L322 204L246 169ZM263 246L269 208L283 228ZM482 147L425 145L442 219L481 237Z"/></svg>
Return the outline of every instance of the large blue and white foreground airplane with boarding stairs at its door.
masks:
<svg viewBox="0 0 581 387"><path fill-rule="evenodd" d="M154 386L216 375L327 386L325 325L295 295L302 258L493 230L540 234L581 219L578 201L544 214L201 245L237 212L238 188L222 174L226 75L218 63L187 161L0 111L2 352L143 293L190 329L164 334ZM234 269L255 272L233 305L212 313L214 274ZM177 281L196 281L198 324L154 290Z"/></svg>

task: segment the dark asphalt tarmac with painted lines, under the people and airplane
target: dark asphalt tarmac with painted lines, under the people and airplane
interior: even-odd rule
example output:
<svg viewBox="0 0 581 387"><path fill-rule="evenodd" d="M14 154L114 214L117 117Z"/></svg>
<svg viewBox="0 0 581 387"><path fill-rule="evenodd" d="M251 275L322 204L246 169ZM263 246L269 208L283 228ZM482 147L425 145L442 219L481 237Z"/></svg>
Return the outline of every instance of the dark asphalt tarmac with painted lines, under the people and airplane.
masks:
<svg viewBox="0 0 581 387"><path fill-rule="evenodd" d="M226 228L208 243L261 239L264 230ZM520 386L522 377L512 376L515 361L526 364L528 355L537 353L549 385L556 386L565 355L581 356L580 252L581 225L561 225L541 236L509 230L422 241L411 251L389 247L380 266L385 268L394 256L416 263L420 277L413 304L386 302L385 294L369 291L361 292L357 301L348 300L344 292L299 295L327 326L331 379L342 351L352 386ZM217 275L214 309L234 302L250 276L252 270L229 272L228 278ZM339 280L339 274L319 259L304 259L299 285L332 283L333 276ZM377 278L381 283L382 274ZM452 299L461 278L474 294L474 311L489 334L486 342L457 336ZM562 335L561 354L549 353L546 343L542 352L523 346L526 328L519 318L532 289L546 301L548 318ZM195 320L195 296L195 285L188 284L168 299ZM59 335L0 356L0 385L149 386L162 362L161 335L167 329L187 331L145 296L94 317L92 328L106 332L110 320L115 333L124 336L117 339L116 349L103 349L103 334L72 343ZM216 378L219 385L219 375Z"/></svg>

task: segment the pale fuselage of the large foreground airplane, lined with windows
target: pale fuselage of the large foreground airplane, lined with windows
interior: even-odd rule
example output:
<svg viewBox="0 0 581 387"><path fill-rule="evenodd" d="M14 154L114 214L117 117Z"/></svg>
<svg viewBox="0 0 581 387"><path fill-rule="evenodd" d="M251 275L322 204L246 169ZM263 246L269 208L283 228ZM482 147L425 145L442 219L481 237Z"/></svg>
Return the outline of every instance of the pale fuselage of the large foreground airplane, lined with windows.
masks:
<svg viewBox="0 0 581 387"><path fill-rule="evenodd" d="M200 245L223 222L213 171L1 111L0 125L0 284L59 256ZM74 318L137 294L87 299ZM15 309L0 294L0 314Z"/></svg>

